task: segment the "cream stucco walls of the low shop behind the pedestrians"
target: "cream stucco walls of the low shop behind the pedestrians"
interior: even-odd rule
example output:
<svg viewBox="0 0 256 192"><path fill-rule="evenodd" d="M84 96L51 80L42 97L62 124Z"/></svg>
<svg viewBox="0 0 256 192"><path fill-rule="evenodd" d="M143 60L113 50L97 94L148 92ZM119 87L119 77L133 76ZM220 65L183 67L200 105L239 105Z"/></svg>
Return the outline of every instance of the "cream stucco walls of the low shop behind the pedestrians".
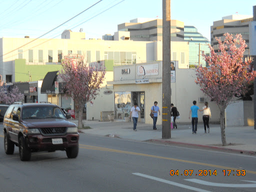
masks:
<svg viewBox="0 0 256 192"><path fill-rule="evenodd" d="M136 74L136 65L125 65L125 66L115 66L114 67L114 81L107 82L108 84L113 84L114 92L117 91L144 91L145 92L145 123L152 123L152 119L149 116L149 111L153 102L156 100L160 111L162 111L162 70L161 61L158 63L159 73L158 75L149 75L145 78L149 79L149 83L145 84L135 84L135 79L141 78ZM145 63L143 63L145 64ZM148 63L148 64L151 64ZM135 69L134 69L134 68ZM130 74L121 74L121 68L130 68ZM135 72L135 73L134 73ZM204 97L204 100L208 102L208 106L211 109L211 119L210 122L219 122L219 109L218 106L211 102L207 96L203 94L200 87L195 84L194 79L196 78L195 69L184 69L176 68L175 82L171 83L171 99L170 102L177 107L180 113L180 119L177 122L190 123L191 118L188 119L190 107L193 105L192 101L197 101L197 106L202 108L204 102L199 102L199 97ZM132 74L133 73L133 74ZM120 80L122 77L122 80ZM134 77L134 78L132 78ZM202 113L198 111L198 122L202 122ZM161 116L157 120L157 124L161 124Z"/></svg>

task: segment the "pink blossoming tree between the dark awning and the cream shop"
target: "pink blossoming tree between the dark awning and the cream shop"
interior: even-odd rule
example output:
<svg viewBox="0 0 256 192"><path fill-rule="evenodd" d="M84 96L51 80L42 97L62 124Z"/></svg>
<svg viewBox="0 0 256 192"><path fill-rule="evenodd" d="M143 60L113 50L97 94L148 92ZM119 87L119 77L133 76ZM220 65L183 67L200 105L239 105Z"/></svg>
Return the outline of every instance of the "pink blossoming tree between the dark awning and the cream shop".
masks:
<svg viewBox="0 0 256 192"><path fill-rule="evenodd" d="M77 55L78 57L78 55ZM72 59L64 57L60 77L65 89L78 106L78 127L82 127L82 110L86 102L95 99L105 76L102 63L86 63L84 56Z"/></svg>

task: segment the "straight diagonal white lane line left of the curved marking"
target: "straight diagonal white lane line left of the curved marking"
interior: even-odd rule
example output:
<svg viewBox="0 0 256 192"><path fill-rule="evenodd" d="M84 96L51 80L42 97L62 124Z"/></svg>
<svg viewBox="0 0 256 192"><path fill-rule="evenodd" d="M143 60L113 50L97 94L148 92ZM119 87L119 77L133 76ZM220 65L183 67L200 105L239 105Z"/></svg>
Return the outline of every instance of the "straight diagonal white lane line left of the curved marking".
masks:
<svg viewBox="0 0 256 192"><path fill-rule="evenodd" d="M157 180L157 181L164 182L164 183L167 183L167 184L175 185L175 186L178 186L178 187L182 187L182 188L198 191L198 192L210 192L209 190L204 190L204 189L192 187L192 186L189 186L189 185L180 184L180 183L177 183L177 182L165 180L165 179L154 177L154 176L150 176L150 175L147 175L147 174L142 174L142 173L139 173L139 172L133 172L132 174L135 174L135 175L138 175L138 176L142 176L142 177L146 177L146 178L150 178L152 180Z"/></svg>

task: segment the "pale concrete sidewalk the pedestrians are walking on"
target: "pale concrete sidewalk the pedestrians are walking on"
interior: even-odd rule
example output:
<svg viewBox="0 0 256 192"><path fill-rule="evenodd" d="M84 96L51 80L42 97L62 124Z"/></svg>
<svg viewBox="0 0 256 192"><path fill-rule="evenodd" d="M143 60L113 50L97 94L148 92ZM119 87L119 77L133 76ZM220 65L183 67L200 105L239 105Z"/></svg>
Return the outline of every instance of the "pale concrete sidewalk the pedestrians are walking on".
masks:
<svg viewBox="0 0 256 192"><path fill-rule="evenodd" d="M70 121L78 123L78 120ZM84 120L83 124L91 127L91 129L80 129L80 132L86 134L256 154L256 129L253 126L226 127L225 135L228 145L222 146L219 124L210 124L210 132L206 134L203 124L197 125L196 134L192 134L191 124L177 124L177 129L171 129L171 138L169 139L162 139L161 125L156 126L157 130L153 130L152 124L138 122L137 131L133 131L133 123L122 120L113 122Z"/></svg>

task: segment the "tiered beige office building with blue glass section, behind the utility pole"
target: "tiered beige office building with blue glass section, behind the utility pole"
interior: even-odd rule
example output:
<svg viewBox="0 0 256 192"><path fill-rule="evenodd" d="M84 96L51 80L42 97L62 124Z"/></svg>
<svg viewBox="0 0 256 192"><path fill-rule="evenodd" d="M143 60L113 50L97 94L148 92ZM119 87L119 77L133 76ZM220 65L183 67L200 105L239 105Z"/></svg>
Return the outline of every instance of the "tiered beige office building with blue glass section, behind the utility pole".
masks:
<svg viewBox="0 0 256 192"><path fill-rule="evenodd" d="M134 41L162 40L162 19L136 18L130 20L130 22L118 24L117 28L118 31L129 31L130 39ZM187 63L187 67L198 64L206 65L201 56L201 51L209 54L207 44L210 42L206 37L197 32L197 28L194 26L184 26L184 23L179 20L171 20L170 35L171 41L189 42L189 63ZM104 35L102 38L109 39L109 35ZM175 53L171 54L171 59L176 60Z"/></svg>

